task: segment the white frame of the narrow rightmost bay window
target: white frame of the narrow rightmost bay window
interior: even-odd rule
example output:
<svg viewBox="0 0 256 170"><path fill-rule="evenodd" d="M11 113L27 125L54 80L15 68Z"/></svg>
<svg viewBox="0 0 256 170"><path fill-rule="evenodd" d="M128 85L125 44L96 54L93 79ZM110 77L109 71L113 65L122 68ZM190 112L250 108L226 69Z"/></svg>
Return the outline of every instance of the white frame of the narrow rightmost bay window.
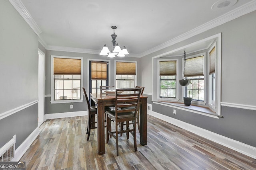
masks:
<svg viewBox="0 0 256 170"><path fill-rule="evenodd" d="M215 50L216 50L216 56L215 56L215 90L216 90L216 61L217 61L217 47L216 47L216 42L210 47L210 50L208 51L208 106L209 108L212 110L212 111L216 111L216 92L215 92L215 100L212 100L212 90L213 90L213 87L212 87L212 78L210 78L210 76L212 75L209 75L209 72L210 72L210 52L212 51L212 49L215 47Z"/></svg>

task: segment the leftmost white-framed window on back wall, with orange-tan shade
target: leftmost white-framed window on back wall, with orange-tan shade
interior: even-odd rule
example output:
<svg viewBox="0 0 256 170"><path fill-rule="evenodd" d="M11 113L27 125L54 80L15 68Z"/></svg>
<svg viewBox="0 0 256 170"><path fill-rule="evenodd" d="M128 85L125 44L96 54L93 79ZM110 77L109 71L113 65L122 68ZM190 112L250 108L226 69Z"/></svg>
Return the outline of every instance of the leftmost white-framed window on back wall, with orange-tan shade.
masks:
<svg viewBox="0 0 256 170"><path fill-rule="evenodd" d="M82 86L82 58L51 56L52 103L80 102Z"/></svg>

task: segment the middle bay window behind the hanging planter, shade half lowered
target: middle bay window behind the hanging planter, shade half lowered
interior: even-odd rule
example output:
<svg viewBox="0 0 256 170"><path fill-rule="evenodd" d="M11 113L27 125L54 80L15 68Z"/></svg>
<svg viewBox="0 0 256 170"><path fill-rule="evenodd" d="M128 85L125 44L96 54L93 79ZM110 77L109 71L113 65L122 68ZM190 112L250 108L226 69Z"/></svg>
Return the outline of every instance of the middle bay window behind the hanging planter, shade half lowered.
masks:
<svg viewBox="0 0 256 170"><path fill-rule="evenodd" d="M185 87L184 96L200 104L205 104L204 56L205 53L201 53L189 57L184 68L184 77L191 80L191 84Z"/></svg>

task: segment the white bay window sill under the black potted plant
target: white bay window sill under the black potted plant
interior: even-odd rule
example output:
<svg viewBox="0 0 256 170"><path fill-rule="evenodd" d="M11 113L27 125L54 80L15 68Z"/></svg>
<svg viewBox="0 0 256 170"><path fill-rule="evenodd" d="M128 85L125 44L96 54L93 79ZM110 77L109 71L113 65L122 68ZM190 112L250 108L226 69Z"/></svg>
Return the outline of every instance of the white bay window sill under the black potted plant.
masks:
<svg viewBox="0 0 256 170"><path fill-rule="evenodd" d="M192 113L197 113L209 117L214 117L218 119L219 117L223 117L222 115L218 115L216 112L211 111L207 107L202 107L202 106L185 106L183 103L178 103L178 102L168 102L168 101L153 101L154 104L160 104L163 106L168 106L168 107L174 107L177 109L185 110L185 111L190 111Z"/></svg>

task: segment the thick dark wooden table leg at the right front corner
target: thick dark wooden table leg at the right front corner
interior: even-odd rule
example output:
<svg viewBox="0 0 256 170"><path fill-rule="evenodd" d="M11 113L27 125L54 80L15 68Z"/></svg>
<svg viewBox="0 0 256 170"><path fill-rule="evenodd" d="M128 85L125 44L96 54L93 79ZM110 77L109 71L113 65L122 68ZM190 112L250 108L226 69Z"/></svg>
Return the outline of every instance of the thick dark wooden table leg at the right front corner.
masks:
<svg viewBox="0 0 256 170"><path fill-rule="evenodd" d="M141 98L140 106L140 144L148 144L148 100L147 98Z"/></svg>

